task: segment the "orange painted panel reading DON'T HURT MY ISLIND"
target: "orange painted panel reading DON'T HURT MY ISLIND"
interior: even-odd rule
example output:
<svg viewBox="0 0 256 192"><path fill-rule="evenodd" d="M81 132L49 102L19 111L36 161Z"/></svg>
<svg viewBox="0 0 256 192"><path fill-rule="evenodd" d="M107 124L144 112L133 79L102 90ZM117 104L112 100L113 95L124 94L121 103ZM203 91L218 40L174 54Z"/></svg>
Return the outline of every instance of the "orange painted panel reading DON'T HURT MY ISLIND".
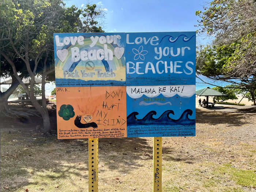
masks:
<svg viewBox="0 0 256 192"><path fill-rule="evenodd" d="M127 137L125 86L56 87L56 101L58 139Z"/></svg>

